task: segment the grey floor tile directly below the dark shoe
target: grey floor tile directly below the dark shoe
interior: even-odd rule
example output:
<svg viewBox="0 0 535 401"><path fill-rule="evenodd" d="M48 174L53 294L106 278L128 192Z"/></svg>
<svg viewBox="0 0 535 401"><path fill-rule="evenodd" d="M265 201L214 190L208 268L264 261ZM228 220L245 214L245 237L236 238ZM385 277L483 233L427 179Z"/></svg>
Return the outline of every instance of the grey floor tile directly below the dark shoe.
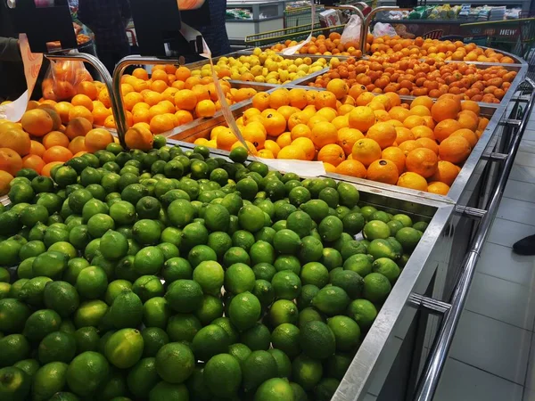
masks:
<svg viewBox="0 0 535 401"><path fill-rule="evenodd" d="M495 243L485 244L475 271L529 288L535 286L535 258L516 255L511 248Z"/></svg>

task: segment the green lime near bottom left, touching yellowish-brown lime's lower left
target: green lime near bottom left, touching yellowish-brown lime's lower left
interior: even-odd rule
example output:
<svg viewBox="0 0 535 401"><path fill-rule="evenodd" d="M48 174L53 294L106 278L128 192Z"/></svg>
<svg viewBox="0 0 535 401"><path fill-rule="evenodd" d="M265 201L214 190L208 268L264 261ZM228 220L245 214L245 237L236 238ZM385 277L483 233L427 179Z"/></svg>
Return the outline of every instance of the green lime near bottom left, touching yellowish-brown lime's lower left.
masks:
<svg viewBox="0 0 535 401"><path fill-rule="evenodd" d="M102 354L86 351L67 368L67 385L78 396L89 396L109 378L110 365Z"/></svg>

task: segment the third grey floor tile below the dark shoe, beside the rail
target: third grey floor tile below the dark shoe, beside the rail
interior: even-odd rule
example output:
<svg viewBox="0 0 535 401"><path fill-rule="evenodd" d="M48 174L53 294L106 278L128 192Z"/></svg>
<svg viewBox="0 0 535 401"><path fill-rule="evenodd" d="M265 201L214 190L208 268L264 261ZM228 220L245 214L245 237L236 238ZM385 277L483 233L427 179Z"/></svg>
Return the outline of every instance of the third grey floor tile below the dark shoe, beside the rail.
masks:
<svg viewBox="0 0 535 401"><path fill-rule="evenodd" d="M530 343L531 331L465 310L449 356L523 385Z"/></svg>

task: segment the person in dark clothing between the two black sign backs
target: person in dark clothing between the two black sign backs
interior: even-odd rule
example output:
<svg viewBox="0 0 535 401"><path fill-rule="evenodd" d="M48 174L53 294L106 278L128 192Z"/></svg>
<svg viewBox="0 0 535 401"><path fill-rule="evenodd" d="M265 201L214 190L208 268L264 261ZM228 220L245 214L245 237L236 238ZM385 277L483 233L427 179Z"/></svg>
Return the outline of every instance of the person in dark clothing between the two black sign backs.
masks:
<svg viewBox="0 0 535 401"><path fill-rule="evenodd" d="M110 74L130 54L126 29L131 18L128 0L79 0L78 20L95 33L96 53Z"/></svg>

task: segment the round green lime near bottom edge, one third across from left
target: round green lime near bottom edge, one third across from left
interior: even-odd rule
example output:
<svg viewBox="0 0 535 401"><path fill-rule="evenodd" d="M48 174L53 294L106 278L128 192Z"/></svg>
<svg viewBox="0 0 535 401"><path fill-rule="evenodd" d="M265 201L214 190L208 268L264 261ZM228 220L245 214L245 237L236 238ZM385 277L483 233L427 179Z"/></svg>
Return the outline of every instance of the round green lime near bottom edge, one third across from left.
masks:
<svg viewBox="0 0 535 401"><path fill-rule="evenodd" d="M169 383L182 383L195 368L195 357L185 344L170 342L156 354L156 371Z"/></svg>

